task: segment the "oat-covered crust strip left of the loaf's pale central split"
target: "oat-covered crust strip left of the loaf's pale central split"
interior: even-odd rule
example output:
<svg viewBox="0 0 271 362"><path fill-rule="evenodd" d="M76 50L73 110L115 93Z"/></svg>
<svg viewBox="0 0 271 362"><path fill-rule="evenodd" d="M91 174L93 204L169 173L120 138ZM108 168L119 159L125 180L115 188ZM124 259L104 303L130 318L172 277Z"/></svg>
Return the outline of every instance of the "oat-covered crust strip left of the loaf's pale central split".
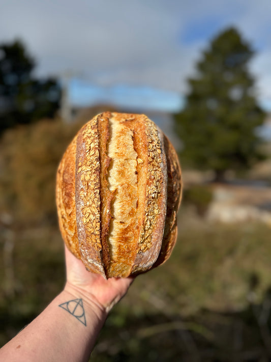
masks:
<svg viewBox="0 0 271 362"><path fill-rule="evenodd" d="M101 258L100 159L97 117L80 131L76 145L75 205L81 260L104 274Z"/></svg>

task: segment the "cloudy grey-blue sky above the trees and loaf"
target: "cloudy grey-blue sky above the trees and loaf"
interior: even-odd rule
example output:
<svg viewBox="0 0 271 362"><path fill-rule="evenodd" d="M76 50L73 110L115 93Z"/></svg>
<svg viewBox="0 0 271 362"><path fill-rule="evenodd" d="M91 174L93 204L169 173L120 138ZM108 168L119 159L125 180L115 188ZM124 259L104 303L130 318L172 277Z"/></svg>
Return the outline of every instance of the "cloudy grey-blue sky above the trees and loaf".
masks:
<svg viewBox="0 0 271 362"><path fill-rule="evenodd" d="M236 26L258 51L251 71L271 109L270 0L0 0L0 8L0 41L24 40L37 74L70 70L109 97L119 85L131 99L155 89L156 102L163 92L184 95L210 39Z"/></svg>

